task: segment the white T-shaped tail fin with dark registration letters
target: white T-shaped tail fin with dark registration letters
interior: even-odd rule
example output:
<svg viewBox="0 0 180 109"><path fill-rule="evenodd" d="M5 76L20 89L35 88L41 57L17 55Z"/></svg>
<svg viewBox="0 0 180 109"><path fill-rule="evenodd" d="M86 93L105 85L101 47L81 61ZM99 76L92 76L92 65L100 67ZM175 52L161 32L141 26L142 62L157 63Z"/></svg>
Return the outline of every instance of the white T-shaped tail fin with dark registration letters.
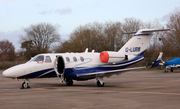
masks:
<svg viewBox="0 0 180 109"><path fill-rule="evenodd" d="M142 29L136 32L136 34L118 51L123 55L143 55L146 50L153 32L168 31L170 29ZM135 33L135 32L131 32ZM130 33L127 33L130 34Z"/></svg>

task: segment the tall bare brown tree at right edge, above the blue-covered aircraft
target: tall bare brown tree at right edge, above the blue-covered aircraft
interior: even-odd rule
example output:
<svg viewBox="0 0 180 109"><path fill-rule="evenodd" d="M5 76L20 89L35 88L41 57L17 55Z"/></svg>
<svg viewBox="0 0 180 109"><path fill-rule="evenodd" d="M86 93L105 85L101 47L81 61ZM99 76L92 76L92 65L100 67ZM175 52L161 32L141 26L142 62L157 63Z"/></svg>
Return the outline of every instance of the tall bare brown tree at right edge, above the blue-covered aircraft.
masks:
<svg viewBox="0 0 180 109"><path fill-rule="evenodd" d="M180 12L170 16L166 28L172 30L161 34L163 55L166 57L178 57L180 56Z"/></svg>

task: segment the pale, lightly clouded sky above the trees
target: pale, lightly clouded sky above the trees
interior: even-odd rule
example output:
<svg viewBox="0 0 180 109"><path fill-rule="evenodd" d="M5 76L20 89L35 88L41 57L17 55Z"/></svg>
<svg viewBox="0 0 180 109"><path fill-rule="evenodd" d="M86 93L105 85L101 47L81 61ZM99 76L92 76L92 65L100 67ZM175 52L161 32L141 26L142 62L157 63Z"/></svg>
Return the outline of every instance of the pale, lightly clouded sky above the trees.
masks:
<svg viewBox="0 0 180 109"><path fill-rule="evenodd" d="M134 17L165 24L176 11L179 0L0 0L0 41L9 40L17 50L23 29L41 22L59 27L61 38L68 39L87 23Z"/></svg>

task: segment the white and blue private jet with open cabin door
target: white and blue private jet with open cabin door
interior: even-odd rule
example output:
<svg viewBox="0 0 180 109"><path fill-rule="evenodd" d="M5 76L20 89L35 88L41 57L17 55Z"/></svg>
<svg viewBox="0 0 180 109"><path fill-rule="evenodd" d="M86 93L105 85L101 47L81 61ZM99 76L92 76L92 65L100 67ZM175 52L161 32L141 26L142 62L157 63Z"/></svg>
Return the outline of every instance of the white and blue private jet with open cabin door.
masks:
<svg viewBox="0 0 180 109"><path fill-rule="evenodd" d="M58 77L60 82L68 86L73 85L73 80L95 79L97 86L104 86L104 77L128 70L142 69L145 67L127 68L144 59L145 52L153 32L167 31L170 29L142 29L118 51L103 51L101 53L54 53L39 54L25 64L16 65L3 72L3 76L24 79L22 88L28 88L28 79ZM158 60L157 60L158 61ZM156 63L156 62L155 62Z"/></svg>

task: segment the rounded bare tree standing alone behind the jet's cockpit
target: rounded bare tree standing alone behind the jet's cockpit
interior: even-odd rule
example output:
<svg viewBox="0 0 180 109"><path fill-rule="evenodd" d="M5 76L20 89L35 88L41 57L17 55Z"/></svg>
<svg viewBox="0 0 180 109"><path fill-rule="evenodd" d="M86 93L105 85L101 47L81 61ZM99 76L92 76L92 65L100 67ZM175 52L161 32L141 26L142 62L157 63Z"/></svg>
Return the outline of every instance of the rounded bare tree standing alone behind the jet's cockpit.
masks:
<svg viewBox="0 0 180 109"><path fill-rule="evenodd" d="M59 42L58 29L49 23L39 23L24 29L21 35L21 48L25 49L28 58L38 53L49 52L52 43Z"/></svg>

